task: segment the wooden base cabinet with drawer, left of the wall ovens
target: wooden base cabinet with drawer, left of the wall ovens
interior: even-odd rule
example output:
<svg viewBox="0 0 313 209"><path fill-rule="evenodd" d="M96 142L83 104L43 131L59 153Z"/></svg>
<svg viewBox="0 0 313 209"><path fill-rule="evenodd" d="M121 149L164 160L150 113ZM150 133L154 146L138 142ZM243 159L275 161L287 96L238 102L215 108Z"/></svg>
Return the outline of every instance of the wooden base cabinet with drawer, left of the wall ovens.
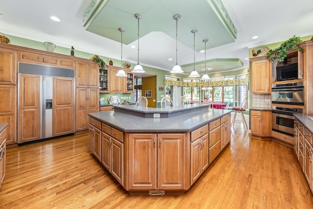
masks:
<svg viewBox="0 0 313 209"><path fill-rule="evenodd" d="M251 137L262 139L271 136L271 111L250 110Z"/></svg>

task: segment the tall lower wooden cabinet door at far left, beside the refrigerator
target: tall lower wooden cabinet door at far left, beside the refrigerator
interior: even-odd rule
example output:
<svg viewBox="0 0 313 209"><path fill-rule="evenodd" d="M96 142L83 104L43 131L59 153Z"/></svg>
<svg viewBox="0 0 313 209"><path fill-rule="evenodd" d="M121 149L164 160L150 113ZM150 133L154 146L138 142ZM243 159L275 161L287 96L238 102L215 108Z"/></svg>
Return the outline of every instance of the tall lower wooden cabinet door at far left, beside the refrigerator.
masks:
<svg viewBox="0 0 313 209"><path fill-rule="evenodd" d="M17 87L0 85L0 123L8 123L6 127L6 144L17 142Z"/></svg>

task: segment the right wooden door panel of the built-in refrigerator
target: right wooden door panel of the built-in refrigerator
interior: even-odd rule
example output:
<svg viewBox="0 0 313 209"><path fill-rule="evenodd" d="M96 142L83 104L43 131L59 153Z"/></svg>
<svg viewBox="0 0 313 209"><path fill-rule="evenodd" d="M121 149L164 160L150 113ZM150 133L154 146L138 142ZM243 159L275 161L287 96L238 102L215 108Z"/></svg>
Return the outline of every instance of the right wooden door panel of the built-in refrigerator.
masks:
<svg viewBox="0 0 313 209"><path fill-rule="evenodd" d="M74 133L74 79L53 78L53 136Z"/></svg>

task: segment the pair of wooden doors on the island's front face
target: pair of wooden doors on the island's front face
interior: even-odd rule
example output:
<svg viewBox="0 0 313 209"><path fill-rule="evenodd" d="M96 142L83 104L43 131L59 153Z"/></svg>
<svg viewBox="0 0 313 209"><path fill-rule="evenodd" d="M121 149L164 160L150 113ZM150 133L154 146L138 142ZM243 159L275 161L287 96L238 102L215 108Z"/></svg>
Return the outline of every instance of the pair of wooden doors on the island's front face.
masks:
<svg viewBox="0 0 313 209"><path fill-rule="evenodd" d="M129 189L184 189L184 143L185 134L129 134Z"/></svg>

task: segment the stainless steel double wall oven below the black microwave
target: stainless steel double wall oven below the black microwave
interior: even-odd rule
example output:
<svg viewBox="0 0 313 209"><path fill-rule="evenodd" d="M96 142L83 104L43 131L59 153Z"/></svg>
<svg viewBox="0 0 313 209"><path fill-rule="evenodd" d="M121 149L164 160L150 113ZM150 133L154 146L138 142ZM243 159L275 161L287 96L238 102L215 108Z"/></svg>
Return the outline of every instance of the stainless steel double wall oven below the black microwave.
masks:
<svg viewBox="0 0 313 209"><path fill-rule="evenodd" d="M293 136L293 113L303 113L303 82L272 85L272 130Z"/></svg>

